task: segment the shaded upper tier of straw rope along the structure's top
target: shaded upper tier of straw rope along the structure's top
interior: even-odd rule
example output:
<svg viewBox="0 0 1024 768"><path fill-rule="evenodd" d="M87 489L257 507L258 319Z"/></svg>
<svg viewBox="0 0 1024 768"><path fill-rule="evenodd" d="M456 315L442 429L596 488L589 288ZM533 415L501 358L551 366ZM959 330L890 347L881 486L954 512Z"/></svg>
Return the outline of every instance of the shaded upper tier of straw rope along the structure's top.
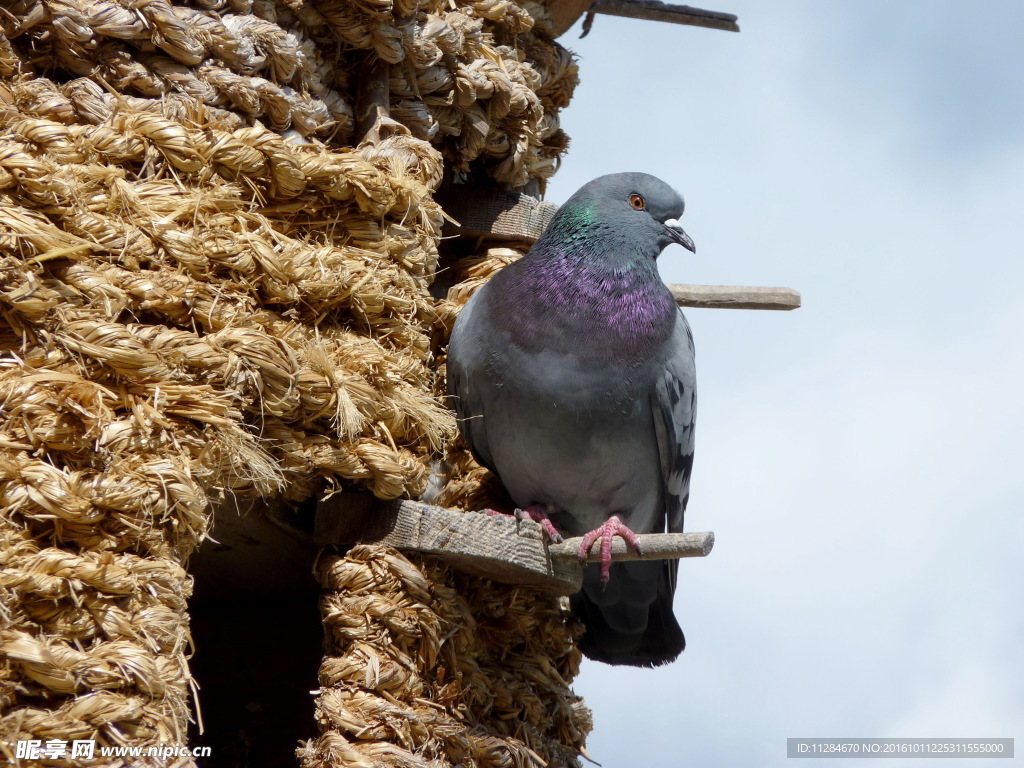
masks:
<svg viewBox="0 0 1024 768"><path fill-rule="evenodd" d="M346 141L354 128L348 73L367 51L393 65L391 118L434 142L456 171L479 159L497 181L518 186L554 173L568 145L558 110L577 67L551 40L540 3L203 5L18 0L0 22L0 76L60 69L94 86L79 100L101 101L101 84L136 112L152 109L140 97L162 97L179 110L207 108L215 121L230 124L233 114ZM34 105L67 115L76 94L61 90Z"/></svg>

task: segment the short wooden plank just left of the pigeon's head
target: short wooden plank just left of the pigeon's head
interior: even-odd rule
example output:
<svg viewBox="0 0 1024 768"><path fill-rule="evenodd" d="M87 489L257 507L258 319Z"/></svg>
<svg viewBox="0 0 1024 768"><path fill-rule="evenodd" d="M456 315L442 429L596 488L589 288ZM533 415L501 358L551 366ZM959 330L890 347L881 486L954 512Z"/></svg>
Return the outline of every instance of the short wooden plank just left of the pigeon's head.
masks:
<svg viewBox="0 0 1024 768"><path fill-rule="evenodd" d="M554 203L507 189L455 185L441 200L444 212L455 219L444 227L446 237L498 238L532 245L558 211Z"/></svg>

